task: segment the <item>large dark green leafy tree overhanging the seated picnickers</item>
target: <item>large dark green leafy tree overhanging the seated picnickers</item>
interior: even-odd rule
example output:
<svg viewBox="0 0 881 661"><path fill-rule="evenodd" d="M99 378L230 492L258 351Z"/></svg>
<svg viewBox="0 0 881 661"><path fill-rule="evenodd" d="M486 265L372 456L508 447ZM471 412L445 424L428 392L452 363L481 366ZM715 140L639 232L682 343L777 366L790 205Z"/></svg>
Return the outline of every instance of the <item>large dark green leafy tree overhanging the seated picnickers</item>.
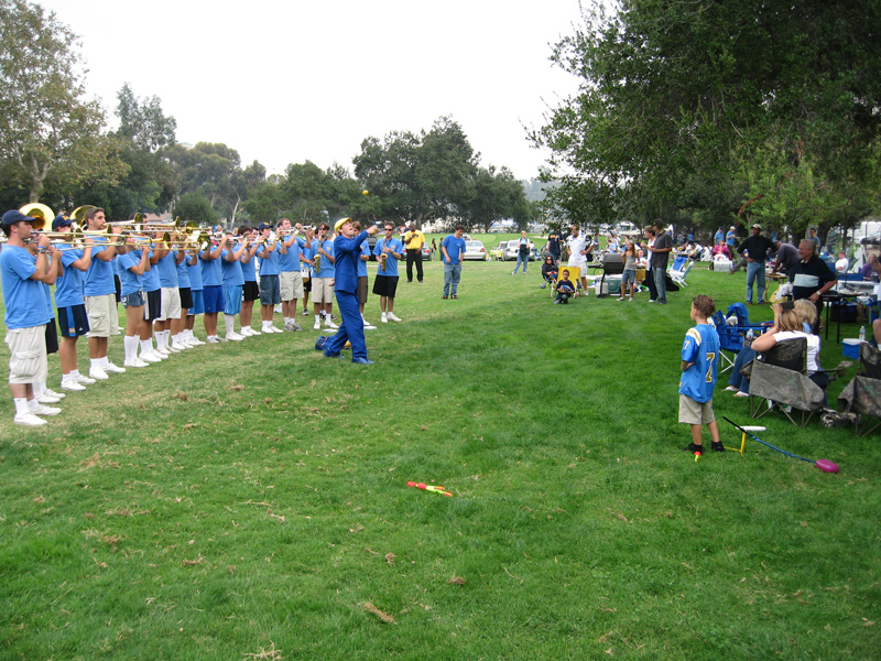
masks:
<svg viewBox="0 0 881 661"><path fill-rule="evenodd" d="M580 188L588 215L627 197L645 208L694 176L724 195L769 156L787 164L780 183L805 165L825 188L878 188L874 0L620 0L584 19L553 55L579 93L532 136L554 152L556 202Z"/></svg>

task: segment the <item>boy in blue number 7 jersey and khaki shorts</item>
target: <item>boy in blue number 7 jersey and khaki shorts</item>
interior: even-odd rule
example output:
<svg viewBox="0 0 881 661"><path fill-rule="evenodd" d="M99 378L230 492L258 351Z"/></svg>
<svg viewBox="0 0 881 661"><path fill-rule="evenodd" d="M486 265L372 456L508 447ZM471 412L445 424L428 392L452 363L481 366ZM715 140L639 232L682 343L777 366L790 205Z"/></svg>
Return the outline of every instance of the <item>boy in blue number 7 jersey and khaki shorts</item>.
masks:
<svg viewBox="0 0 881 661"><path fill-rule="evenodd" d="M709 318L716 312L713 299L700 294L692 301L694 328L685 334L682 345L682 379L679 379L679 422L692 425L692 442L684 449L703 454L700 425L706 424L713 437L710 448L725 452L719 441L719 427L713 413L713 391L719 364L719 335Z"/></svg>

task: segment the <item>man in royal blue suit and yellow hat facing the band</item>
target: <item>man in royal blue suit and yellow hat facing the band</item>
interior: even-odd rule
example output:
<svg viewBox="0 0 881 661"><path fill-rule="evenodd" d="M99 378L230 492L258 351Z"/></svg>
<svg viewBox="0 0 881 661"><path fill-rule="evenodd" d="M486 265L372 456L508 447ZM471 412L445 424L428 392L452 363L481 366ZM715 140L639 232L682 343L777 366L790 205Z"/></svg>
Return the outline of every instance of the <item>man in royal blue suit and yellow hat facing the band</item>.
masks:
<svg viewBox="0 0 881 661"><path fill-rule="evenodd" d="M351 361L372 365L373 361L367 357L365 323L358 307L358 262L361 261L361 245L369 235L377 234L377 227L372 226L358 232L351 218L340 218L336 221L334 230L336 231L334 293L342 321L336 335L325 343L324 355L327 358L336 358L346 346L346 342L350 342Z"/></svg>

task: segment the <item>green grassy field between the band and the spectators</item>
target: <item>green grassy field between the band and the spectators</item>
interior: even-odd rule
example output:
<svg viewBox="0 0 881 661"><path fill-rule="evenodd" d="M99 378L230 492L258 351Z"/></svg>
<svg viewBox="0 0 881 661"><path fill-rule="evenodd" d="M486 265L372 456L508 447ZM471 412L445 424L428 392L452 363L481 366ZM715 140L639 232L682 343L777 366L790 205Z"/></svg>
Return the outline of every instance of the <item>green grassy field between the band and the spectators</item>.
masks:
<svg viewBox="0 0 881 661"><path fill-rule="evenodd" d="M766 416L837 475L682 452L690 299L744 277L559 306L509 267L466 263L458 301L437 261L402 282L374 366L307 330L112 376L36 431L8 399L0 659L878 659L878 436Z"/></svg>

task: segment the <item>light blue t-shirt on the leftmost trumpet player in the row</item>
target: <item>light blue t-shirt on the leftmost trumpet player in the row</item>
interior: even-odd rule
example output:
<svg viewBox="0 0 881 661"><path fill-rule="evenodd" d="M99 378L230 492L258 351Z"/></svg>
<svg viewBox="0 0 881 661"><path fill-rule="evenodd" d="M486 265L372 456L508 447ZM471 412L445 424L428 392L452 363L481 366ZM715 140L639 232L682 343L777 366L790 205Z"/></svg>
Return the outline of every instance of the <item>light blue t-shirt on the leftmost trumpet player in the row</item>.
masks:
<svg viewBox="0 0 881 661"><path fill-rule="evenodd" d="M47 324L43 283L31 280L36 258L26 248L7 246L0 250L0 280L3 282L7 328L31 328Z"/></svg>

